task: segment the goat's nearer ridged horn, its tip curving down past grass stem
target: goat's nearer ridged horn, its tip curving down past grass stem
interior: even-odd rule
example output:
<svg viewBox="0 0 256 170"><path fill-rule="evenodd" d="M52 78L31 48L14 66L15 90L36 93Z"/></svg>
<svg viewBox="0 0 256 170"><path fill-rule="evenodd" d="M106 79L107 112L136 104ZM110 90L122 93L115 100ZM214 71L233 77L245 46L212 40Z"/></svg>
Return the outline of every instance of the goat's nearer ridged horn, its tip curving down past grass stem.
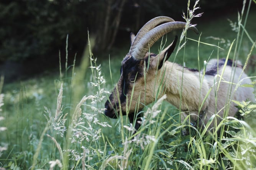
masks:
<svg viewBox="0 0 256 170"><path fill-rule="evenodd" d="M169 22L164 23L156 28L151 29L149 32L147 32L140 40L139 42L131 47L130 49L130 55L135 57L137 60L143 60L146 53L148 52L148 49L164 34L167 34L168 32L171 32L173 30L177 29L184 29L185 25L187 23L184 22ZM195 26L189 24L189 29L192 29L195 33L198 34L197 28Z"/></svg>

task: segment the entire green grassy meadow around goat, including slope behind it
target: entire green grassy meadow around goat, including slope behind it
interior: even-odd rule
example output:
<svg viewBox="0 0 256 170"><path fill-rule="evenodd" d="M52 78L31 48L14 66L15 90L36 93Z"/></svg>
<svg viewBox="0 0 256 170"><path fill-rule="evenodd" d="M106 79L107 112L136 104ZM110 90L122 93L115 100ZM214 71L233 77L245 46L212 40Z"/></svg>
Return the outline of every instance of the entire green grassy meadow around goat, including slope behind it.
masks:
<svg viewBox="0 0 256 170"><path fill-rule="evenodd" d="M239 13L198 23L202 34L187 31L186 44L169 60L201 70L210 58L238 58L256 90L255 16L246 3ZM164 36L150 51L159 52L176 34L182 33ZM66 51L58 73L8 84L1 78L0 170L256 169L255 101L230 101L240 108L238 117L224 117L219 131L207 133L180 122L182 111L162 97L144 108L143 126L134 135L128 117L103 114L129 37L100 60L91 52L94 37L88 41L79 63L68 65ZM183 129L190 133L182 135Z"/></svg>

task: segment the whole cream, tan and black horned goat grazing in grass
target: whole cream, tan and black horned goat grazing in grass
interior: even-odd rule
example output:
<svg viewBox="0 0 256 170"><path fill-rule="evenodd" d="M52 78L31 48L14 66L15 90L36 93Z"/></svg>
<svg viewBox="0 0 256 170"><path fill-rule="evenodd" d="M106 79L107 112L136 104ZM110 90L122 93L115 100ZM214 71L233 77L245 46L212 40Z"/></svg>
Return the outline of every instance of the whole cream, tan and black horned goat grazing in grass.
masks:
<svg viewBox="0 0 256 170"><path fill-rule="evenodd" d="M177 36L158 55L148 53L149 48L160 37L173 30L184 29L185 25L184 22L159 16L148 21L136 36L131 33L131 47L121 62L120 79L105 103L106 116L118 118L120 112L122 115L128 115L130 123L136 120L135 129L138 130L138 122L141 119L135 112L166 94L166 100L177 108L180 107L184 116L190 115L192 120L203 125L216 113L223 117L228 103L229 116L234 116L238 108L231 100L254 101L252 87L238 86L235 90L238 83L251 83L243 73L239 61L212 59L205 69L204 76L200 76L198 70L167 61L174 51ZM189 24L188 28L198 34L195 26ZM218 73L223 75L216 76ZM212 123L210 128L213 127Z"/></svg>

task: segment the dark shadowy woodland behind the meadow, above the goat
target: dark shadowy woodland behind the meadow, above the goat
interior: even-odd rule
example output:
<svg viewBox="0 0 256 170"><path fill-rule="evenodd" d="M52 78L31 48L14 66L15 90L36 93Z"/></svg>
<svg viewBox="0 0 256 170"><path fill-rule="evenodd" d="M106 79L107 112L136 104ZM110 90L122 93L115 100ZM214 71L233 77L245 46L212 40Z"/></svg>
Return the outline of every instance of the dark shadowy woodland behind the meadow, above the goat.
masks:
<svg viewBox="0 0 256 170"><path fill-rule="evenodd" d="M190 9L195 0L191 0ZM201 0L200 21L241 10L242 0ZM254 4L255 9L255 4ZM0 0L0 71L6 81L57 68L69 34L69 56L77 60L87 44L87 30L96 37L94 55L120 47L130 32L149 19L170 16L184 21L187 0ZM72 64L72 63L70 63ZM58 69L57 69L58 70Z"/></svg>

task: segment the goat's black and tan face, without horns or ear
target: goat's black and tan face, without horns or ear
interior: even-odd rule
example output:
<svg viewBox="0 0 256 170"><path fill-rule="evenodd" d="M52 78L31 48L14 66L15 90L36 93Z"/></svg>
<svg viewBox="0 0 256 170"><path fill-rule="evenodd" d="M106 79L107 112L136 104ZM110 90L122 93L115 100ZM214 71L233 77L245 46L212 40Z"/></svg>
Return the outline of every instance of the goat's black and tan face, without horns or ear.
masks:
<svg viewBox="0 0 256 170"><path fill-rule="evenodd" d="M151 54L150 58L155 58L155 56ZM151 93L148 90L152 87L151 82L154 76L152 74L149 76L149 74L156 73L156 68L152 66L148 58L148 54L145 60L135 60L131 55L126 55L121 63L120 79L105 104L105 115L110 118L117 118L120 112L123 115L128 112L132 114L136 109L143 108L143 104L149 104L148 101L153 101L153 94L149 95ZM146 72L148 62L149 69ZM145 91L147 91L146 101L144 101Z"/></svg>

